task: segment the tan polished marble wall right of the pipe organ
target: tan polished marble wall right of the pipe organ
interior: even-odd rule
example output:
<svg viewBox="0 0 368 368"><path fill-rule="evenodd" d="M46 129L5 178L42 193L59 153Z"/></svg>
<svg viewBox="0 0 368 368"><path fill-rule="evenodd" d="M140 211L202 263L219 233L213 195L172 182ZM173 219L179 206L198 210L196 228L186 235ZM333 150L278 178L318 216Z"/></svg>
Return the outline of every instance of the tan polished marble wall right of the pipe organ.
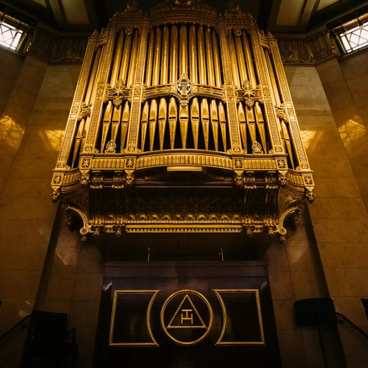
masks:
<svg viewBox="0 0 368 368"><path fill-rule="evenodd" d="M363 163L366 130L356 105L346 102L349 91L337 59L316 68L287 66L286 72L314 170L317 199L308 209L327 291L338 312L368 331L359 300L368 292L368 214L353 166ZM348 367L368 364L365 337L346 323L339 332Z"/></svg>

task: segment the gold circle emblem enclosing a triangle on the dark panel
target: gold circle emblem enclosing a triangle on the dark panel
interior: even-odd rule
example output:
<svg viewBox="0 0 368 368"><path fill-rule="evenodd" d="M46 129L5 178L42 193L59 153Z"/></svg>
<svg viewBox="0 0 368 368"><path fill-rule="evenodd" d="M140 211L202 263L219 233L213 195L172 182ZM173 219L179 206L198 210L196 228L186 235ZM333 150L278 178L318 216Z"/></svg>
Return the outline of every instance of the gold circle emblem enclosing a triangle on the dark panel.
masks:
<svg viewBox="0 0 368 368"><path fill-rule="evenodd" d="M165 301L160 321L170 340L179 345L194 345L210 333L213 311L209 301L198 291L179 290Z"/></svg>

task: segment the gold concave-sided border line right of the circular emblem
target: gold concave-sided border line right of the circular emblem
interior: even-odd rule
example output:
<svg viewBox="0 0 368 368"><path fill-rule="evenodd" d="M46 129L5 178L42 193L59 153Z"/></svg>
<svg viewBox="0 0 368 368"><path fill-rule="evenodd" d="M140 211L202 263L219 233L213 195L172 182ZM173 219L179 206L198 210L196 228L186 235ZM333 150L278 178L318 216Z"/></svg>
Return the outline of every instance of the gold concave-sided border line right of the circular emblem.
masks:
<svg viewBox="0 0 368 368"><path fill-rule="evenodd" d="M263 332L263 322L262 322L262 314L261 314L261 303L260 303L260 297L259 297L259 290L258 289L212 289L212 291L216 294L218 297L218 300L221 304L222 313L223 313L223 326L222 331L219 339L215 343L215 345L265 345L265 339L264 339L264 332ZM222 300L222 297L220 293L235 293L235 292L254 292L256 293L256 300L257 300L257 311L258 311L258 321L260 326L260 333L261 333L261 341L225 341L222 342L222 338L226 331L226 321L227 321L227 315L226 315L226 307Z"/></svg>

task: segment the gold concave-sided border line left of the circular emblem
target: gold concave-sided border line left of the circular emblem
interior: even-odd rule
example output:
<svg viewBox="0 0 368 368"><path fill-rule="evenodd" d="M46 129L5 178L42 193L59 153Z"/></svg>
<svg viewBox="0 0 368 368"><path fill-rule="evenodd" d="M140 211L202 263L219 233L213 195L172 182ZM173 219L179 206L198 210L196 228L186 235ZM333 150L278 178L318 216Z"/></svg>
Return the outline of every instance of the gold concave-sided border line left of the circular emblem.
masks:
<svg viewBox="0 0 368 368"><path fill-rule="evenodd" d="M151 324L150 324L150 315L151 315L151 308L152 304L161 290L114 290L113 302L112 302L112 311L111 311L111 324L110 324L110 334L109 334L109 347L117 347L117 346L159 346L155 338L153 337L151 331ZM146 315L146 324L149 337L151 338L152 342L112 342L112 333L114 329L114 322L115 322L115 313L116 313L116 304L118 293L142 293L148 294L153 293L151 300L148 304L147 308L147 315Z"/></svg>

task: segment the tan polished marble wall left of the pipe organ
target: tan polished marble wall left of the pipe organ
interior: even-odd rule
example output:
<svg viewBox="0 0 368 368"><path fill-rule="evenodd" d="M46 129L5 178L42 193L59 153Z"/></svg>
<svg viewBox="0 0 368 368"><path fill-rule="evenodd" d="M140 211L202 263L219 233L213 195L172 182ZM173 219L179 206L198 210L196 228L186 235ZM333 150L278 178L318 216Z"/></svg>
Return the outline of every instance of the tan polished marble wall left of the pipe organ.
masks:
<svg viewBox="0 0 368 368"><path fill-rule="evenodd" d="M27 56L1 118L0 334L35 303L57 209L50 200L51 170L79 70ZM19 366L24 332L2 341L0 361L9 368Z"/></svg>

